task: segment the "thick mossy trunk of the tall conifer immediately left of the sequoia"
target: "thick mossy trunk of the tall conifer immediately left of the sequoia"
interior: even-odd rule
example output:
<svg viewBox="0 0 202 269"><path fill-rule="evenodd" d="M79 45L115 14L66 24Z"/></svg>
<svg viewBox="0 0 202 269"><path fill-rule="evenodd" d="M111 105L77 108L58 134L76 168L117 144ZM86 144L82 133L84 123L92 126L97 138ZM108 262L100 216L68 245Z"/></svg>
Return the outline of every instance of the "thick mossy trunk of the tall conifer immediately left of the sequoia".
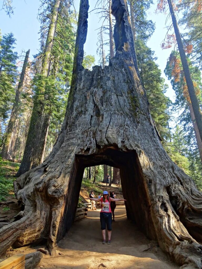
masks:
<svg viewBox="0 0 202 269"><path fill-rule="evenodd" d="M44 77L48 77L50 72L50 57L53 48L59 6L60 0L55 0L42 58L41 75ZM46 98L47 97L44 96L44 93L42 92L34 100L23 159L16 176L22 175L26 171L29 171L32 167L36 167L43 160L47 130L50 122L48 115L44 115Z"/></svg>

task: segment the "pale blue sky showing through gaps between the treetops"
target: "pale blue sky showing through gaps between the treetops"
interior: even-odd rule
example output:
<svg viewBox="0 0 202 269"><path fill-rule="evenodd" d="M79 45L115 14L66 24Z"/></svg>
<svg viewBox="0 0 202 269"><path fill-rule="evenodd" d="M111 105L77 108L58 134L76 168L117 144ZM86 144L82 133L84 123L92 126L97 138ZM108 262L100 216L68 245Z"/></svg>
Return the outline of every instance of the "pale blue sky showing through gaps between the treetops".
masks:
<svg viewBox="0 0 202 269"><path fill-rule="evenodd" d="M75 0L75 7L78 11L79 0ZM94 9L95 0L89 0L90 8ZM27 51L30 49L30 55L37 54L39 49L39 30L40 23L37 20L38 8L40 6L40 0L18 0L13 1L15 6L14 15L9 18L4 10L0 10L0 29L2 34L12 32L17 39L16 51L21 54L21 51ZM155 51L155 56L158 57L156 63L162 72L162 77L165 78L166 83L169 85L169 89L166 95L174 101L174 91L164 75L163 70L166 66L166 61L170 55L171 49L162 50L161 42L164 39L167 29L165 28L166 16L164 14L155 14L155 5L148 11L148 19L152 19L156 24L156 30L153 36L148 41L148 46ZM92 54L96 58L96 63L99 57L96 55L97 49L97 31L99 28L99 18L92 12L89 14L88 19L88 35L85 43L85 52ZM32 57L31 57L32 58Z"/></svg>

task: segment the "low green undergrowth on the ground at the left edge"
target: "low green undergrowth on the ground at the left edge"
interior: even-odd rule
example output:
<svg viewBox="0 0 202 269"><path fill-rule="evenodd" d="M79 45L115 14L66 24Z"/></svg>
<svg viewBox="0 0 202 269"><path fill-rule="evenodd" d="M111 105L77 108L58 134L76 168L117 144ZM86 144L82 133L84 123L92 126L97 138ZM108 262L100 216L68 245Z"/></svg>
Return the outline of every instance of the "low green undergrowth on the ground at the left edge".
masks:
<svg viewBox="0 0 202 269"><path fill-rule="evenodd" d="M19 169L20 164L0 159L0 201L4 201L5 197L13 193L13 177Z"/></svg>

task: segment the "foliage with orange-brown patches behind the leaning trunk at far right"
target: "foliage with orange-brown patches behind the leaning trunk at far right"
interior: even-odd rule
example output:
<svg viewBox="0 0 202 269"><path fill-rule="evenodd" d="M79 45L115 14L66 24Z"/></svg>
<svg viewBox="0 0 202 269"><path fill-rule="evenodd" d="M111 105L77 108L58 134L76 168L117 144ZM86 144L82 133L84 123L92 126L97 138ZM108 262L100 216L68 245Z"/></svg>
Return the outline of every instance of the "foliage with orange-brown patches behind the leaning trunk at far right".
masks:
<svg viewBox="0 0 202 269"><path fill-rule="evenodd" d="M193 79L193 83L197 93L198 101L200 105L202 105L201 73L196 66L193 66L191 64L190 59L188 59L188 62L191 77ZM173 104L173 111L175 112L180 111L179 120L177 124L180 124L182 126L184 133L184 139L183 139L184 147L182 149L182 153L186 155L187 158L189 159L190 169L191 171L193 171L192 172L193 179L199 180L197 178L199 175L201 175L200 171L202 171L202 164L200 161L200 154L198 151L197 141L189 110L190 98L187 92L186 82L184 81L182 63L180 61L180 56L176 51L173 51L170 54L164 72L168 77L168 79L170 80L173 90L175 91L176 94L176 100L175 103Z"/></svg>

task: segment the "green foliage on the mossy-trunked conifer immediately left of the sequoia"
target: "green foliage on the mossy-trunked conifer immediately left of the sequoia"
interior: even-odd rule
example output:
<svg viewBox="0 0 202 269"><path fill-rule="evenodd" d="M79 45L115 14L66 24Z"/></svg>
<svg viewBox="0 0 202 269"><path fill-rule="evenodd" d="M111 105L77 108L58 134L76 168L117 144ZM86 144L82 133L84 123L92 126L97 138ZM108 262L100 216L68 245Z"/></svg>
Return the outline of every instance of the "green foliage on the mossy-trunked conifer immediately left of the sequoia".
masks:
<svg viewBox="0 0 202 269"><path fill-rule="evenodd" d="M69 10L69 2L61 1L51 51L50 72L48 77L43 76L41 63L44 57L47 27L50 23L53 8L52 4L53 1L44 1L41 5L42 12L39 14L41 21L41 53L35 56L34 69L36 74L32 83L34 104L40 106L42 102L44 104L44 115L49 115L50 117L45 157L55 144L65 116L72 76L76 33L74 19Z"/></svg>

